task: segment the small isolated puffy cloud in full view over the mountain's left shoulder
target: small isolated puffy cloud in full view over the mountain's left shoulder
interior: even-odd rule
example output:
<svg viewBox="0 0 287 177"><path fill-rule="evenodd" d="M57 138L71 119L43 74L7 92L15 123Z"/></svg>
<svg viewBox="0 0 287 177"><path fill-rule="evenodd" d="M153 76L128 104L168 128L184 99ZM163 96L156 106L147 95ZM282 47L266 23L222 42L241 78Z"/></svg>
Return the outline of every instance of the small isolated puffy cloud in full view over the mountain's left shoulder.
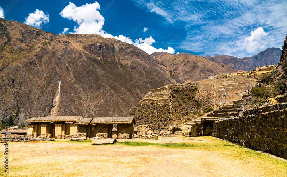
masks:
<svg viewBox="0 0 287 177"><path fill-rule="evenodd" d="M25 18L25 24L40 28L43 24L49 23L49 14L44 14L43 11L36 9L34 13L29 13Z"/></svg>

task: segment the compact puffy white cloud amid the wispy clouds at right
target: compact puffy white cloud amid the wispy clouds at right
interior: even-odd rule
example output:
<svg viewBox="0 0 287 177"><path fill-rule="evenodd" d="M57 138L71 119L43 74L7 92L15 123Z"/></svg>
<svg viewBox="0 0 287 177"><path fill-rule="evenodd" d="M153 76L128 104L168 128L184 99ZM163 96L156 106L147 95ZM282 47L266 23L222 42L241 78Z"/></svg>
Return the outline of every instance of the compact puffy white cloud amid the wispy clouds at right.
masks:
<svg viewBox="0 0 287 177"><path fill-rule="evenodd" d="M264 29L259 27L256 30L251 31L250 34L251 35L249 37L245 38L243 43L245 50L247 50L248 53L253 53L257 49L264 49L265 45L261 42L261 39L267 36L267 33L265 33Z"/></svg>

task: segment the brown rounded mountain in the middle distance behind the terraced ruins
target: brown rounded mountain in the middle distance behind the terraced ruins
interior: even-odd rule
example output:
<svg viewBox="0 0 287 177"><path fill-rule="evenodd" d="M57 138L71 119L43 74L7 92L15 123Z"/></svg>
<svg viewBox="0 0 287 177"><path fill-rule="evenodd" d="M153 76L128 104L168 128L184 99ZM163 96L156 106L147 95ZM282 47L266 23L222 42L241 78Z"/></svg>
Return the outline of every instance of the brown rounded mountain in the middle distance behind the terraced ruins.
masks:
<svg viewBox="0 0 287 177"><path fill-rule="evenodd" d="M151 56L162 62L170 71L170 75L179 83L187 80L199 81L207 79L211 75L236 71L228 65L210 62L202 56L189 53L172 55L170 53L156 52Z"/></svg>

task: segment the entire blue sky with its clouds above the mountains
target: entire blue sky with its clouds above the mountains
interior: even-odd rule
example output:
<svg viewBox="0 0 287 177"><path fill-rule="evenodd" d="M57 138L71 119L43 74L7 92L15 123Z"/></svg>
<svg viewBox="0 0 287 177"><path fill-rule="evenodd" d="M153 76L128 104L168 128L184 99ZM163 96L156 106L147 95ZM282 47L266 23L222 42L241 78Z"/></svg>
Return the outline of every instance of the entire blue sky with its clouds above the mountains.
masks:
<svg viewBox="0 0 287 177"><path fill-rule="evenodd" d="M249 57L281 48L286 0L98 0L0 2L0 17L55 34L98 34L147 53Z"/></svg>

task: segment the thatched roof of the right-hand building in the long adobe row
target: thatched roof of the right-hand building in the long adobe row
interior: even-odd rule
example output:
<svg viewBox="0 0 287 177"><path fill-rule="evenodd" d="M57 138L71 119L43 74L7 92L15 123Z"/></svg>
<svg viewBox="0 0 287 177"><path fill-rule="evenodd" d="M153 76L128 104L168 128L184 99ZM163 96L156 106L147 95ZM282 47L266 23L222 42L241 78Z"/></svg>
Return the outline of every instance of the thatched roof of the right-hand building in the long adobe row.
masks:
<svg viewBox="0 0 287 177"><path fill-rule="evenodd" d="M135 124L134 117L95 117L91 124Z"/></svg>

